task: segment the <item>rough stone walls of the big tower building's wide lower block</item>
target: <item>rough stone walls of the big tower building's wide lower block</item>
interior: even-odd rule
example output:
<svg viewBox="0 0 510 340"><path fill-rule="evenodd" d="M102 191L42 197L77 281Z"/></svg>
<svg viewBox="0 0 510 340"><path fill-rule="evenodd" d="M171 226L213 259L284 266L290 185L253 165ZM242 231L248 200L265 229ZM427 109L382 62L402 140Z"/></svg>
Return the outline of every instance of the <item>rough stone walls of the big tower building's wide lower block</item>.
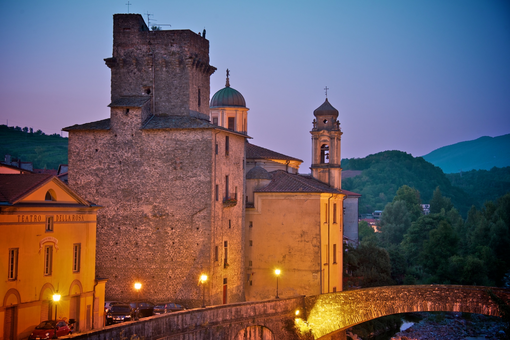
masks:
<svg viewBox="0 0 510 340"><path fill-rule="evenodd" d="M105 206L97 217L96 276L110 279L107 300L133 301L140 281L141 300L198 306L202 272L216 274L208 282L213 303L221 303L227 276L227 301L244 300L244 210L222 202L212 208L214 131L140 130L112 122L109 131L70 132L69 186ZM229 173L242 196L244 138L230 139L230 158L216 161L217 179ZM226 270L211 267L214 246L224 237L232 255Z"/></svg>

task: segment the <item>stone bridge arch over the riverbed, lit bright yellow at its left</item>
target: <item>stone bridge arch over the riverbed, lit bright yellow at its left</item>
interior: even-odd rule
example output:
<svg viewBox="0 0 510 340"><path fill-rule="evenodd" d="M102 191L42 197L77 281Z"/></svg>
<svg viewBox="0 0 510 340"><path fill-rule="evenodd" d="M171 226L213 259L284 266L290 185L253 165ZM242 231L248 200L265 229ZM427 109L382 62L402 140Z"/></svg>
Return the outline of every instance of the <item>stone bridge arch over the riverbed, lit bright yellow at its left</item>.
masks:
<svg viewBox="0 0 510 340"><path fill-rule="evenodd" d="M457 311L499 316L497 305L486 293L487 288L460 285L372 287L310 296L304 303L307 324L317 339L396 313ZM492 290L501 298L510 298L510 289Z"/></svg>

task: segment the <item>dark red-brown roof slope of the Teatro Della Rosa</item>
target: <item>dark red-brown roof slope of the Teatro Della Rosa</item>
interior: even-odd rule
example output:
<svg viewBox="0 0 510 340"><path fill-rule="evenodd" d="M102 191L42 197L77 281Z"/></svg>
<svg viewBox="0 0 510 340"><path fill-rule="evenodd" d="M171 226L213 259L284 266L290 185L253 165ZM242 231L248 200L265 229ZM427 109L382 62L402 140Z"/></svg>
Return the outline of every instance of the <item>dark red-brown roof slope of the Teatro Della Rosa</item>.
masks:
<svg viewBox="0 0 510 340"><path fill-rule="evenodd" d="M47 174L0 174L0 203L13 203L52 178Z"/></svg>

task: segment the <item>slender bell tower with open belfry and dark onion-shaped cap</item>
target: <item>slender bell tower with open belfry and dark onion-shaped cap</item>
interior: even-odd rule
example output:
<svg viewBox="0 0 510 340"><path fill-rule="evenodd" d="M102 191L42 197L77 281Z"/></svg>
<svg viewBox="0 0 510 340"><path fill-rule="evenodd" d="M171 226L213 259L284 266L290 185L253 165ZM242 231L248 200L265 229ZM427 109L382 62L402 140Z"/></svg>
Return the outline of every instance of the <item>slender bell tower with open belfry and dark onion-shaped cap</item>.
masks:
<svg viewBox="0 0 510 340"><path fill-rule="evenodd" d="M312 177L336 189L342 188L340 167L340 122L338 110L326 101L314 111L312 134Z"/></svg>

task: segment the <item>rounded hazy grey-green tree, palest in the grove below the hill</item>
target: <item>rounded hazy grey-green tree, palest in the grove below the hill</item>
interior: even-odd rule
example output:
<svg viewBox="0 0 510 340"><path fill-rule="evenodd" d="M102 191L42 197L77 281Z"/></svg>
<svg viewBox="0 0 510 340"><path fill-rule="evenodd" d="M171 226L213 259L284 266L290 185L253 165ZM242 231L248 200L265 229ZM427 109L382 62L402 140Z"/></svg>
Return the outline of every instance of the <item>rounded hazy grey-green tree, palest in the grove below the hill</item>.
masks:
<svg viewBox="0 0 510 340"><path fill-rule="evenodd" d="M411 215L404 201L388 203L381 215L379 239L384 246L398 245L411 227Z"/></svg>

